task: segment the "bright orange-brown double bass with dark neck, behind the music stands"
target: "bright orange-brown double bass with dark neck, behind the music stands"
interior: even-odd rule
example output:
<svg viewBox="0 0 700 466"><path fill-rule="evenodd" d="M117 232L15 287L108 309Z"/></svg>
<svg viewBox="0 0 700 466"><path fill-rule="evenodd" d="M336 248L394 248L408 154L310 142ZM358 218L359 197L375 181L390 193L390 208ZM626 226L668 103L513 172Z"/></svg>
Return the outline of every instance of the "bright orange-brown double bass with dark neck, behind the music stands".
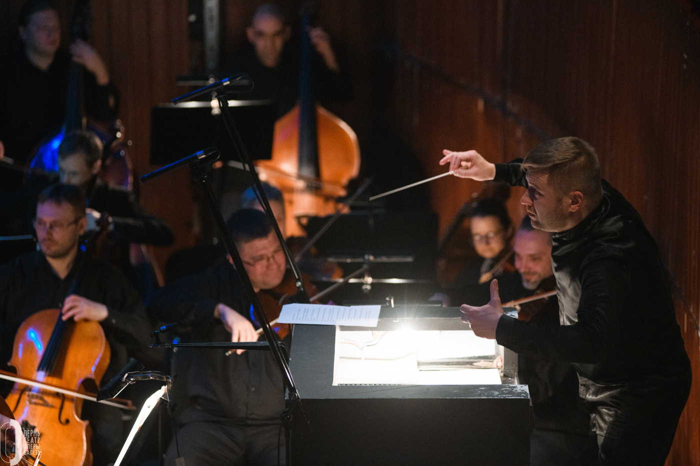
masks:
<svg viewBox="0 0 700 466"><path fill-rule="evenodd" d="M304 236L302 218L333 213L360 171L355 132L314 100L311 10L309 2L302 8L299 101L274 125L272 158L255 162L260 179L282 191L288 236Z"/></svg>

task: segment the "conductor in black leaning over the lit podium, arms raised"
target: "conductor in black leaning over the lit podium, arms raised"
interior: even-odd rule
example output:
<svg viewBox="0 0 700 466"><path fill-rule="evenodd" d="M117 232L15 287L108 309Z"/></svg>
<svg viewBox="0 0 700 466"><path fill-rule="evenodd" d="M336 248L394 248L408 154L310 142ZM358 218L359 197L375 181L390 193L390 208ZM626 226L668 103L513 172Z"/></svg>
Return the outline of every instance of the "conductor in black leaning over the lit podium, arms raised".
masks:
<svg viewBox="0 0 700 466"><path fill-rule="evenodd" d="M489 304L461 306L463 319L479 337L521 355L573 362L595 464L664 465L689 395L690 363L659 248L633 206L602 180L594 148L567 137L510 164L475 150L445 150L440 164L448 163L462 178L527 188L521 202L533 227L553 233L561 325L505 316L497 280Z"/></svg>

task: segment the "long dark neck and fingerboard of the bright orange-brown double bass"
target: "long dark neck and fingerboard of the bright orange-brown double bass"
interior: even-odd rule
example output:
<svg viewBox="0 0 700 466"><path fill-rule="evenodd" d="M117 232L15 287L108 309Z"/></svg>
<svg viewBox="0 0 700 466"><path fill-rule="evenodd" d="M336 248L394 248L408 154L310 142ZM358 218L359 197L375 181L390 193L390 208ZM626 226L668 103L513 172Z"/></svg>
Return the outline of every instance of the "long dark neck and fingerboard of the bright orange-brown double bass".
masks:
<svg viewBox="0 0 700 466"><path fill-rule="evenodd" d="M299 174L318 178L318 141L316 135L316 102L311 79L313 50L309 38L310 8L304 8L301 29L301 62L299 72Z"/></svg>

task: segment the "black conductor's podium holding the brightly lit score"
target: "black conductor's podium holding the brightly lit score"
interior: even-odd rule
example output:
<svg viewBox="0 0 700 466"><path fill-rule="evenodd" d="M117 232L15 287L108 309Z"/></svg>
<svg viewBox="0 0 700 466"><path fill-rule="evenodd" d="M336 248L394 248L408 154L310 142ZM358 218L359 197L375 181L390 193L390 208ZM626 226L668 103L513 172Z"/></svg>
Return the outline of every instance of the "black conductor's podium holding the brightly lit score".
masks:
<svg viewBox="0 0 700 466"><path fill-rule="evenodd" d="M409 316L409 319L405 317ZM469 330L458 308L382 307L377 328ZM294 325L290 369L311 425L296 465L529 465L527 386L333 386L336 327ZM507 363L506 363L507 364Z"/></svg>

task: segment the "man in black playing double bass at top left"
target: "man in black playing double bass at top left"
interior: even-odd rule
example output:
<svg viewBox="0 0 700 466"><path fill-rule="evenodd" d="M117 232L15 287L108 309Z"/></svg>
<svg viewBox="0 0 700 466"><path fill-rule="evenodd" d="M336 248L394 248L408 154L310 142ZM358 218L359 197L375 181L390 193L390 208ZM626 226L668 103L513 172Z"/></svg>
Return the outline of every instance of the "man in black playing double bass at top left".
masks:
<svg viewBox="0 0 700 466"><path fill-rule="evenodd" d="M59 50L61 24L50 0L27 0L19 19L20 43L0 64L0 158L27 164L39 143L64 122L71 60L85 67L87 114L116 118L118 93L97 50L76 40Z"/></svg>

